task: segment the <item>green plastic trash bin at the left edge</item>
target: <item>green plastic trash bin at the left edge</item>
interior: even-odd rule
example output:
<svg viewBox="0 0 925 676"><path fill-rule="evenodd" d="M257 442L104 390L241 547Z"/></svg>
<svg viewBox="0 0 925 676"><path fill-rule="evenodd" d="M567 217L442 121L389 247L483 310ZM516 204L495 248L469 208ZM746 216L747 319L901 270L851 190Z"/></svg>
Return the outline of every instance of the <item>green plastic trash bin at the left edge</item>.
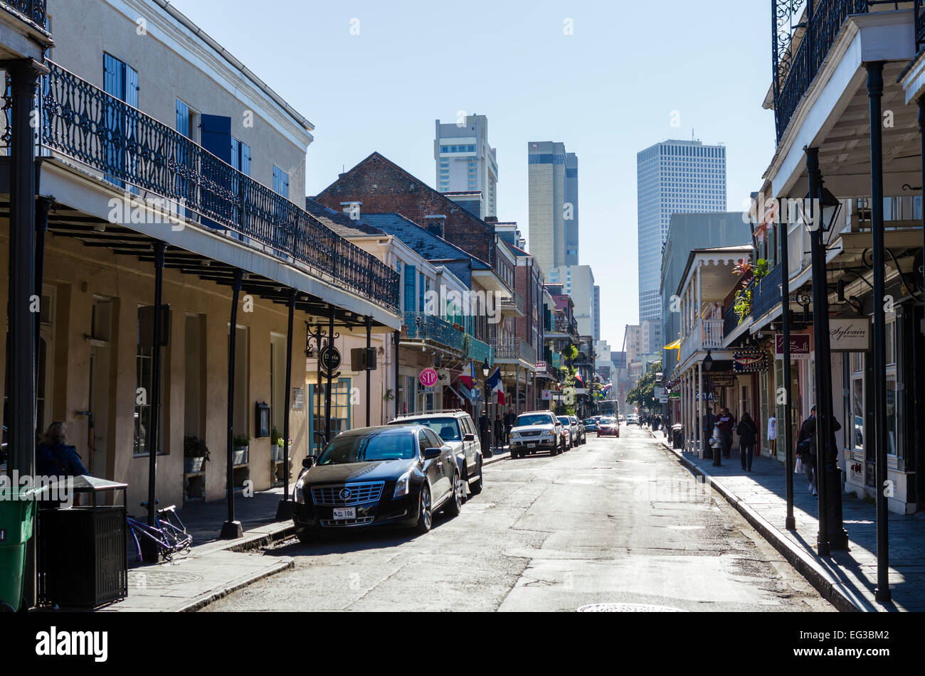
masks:
<svg viewBox="0 0 925 676"><path fill-rule="evenodd" d="M22 603L26 543L32 537L38 493L13 489L0 496L0 610L19 610Z"/></svg>

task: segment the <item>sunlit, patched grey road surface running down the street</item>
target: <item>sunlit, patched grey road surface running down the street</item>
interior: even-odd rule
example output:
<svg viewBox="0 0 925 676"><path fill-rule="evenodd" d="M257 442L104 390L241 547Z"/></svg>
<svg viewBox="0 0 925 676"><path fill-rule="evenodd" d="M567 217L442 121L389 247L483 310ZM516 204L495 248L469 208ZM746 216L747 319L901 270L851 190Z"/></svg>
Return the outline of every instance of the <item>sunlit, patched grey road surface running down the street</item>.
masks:
<svg viewBox="0 0 925 676"><path fill-rule="evenodd" d="M272 551L294 570L205 610L834 610L644 430L485 475L482 494L426 536L284 542Z"/></svg>

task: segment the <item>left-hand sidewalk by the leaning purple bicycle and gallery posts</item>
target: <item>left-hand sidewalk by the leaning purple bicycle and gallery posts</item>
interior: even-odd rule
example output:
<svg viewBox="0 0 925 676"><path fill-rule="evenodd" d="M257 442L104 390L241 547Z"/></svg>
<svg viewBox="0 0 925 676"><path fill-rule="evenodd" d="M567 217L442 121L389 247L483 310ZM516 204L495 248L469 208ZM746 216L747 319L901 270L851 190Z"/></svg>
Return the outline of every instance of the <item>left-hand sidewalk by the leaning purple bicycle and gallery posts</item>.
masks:
<svg viewBox="0 0 925 676"><path fill-rule="evenodd" d="M506 447L495 449L484 464L498 463L510 455ZM189 554L174 557L173 561L136 561L135 544L129 536L129 597L98 611L200 610L244 586L293 568L295 561L291 557L260 551L272 542L295 535L291 521L275 520L282 495L283 489L277 488L255 493L253 498L235 496L235 518L244 529L244 537L237 540L218 539L228 518L226 501L183 507L179 517L192 534L194 546Z"/></svg>

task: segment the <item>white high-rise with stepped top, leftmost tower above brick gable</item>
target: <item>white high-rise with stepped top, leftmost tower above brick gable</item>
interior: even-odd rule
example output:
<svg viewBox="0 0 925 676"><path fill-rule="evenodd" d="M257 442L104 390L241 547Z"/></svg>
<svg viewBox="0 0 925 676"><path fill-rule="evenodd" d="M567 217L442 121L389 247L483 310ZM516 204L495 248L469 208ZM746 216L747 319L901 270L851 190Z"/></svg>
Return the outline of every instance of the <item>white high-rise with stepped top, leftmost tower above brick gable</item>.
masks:
<svg viewBox="0 0 925 676"><path fill-rule="evenodd" d="M498 156L488 145L488 118L467 115L457 122L436 122L434 162L440 192L482 193L479 218L498 216ZM466 206L469 211L475 211Z"/></svg>

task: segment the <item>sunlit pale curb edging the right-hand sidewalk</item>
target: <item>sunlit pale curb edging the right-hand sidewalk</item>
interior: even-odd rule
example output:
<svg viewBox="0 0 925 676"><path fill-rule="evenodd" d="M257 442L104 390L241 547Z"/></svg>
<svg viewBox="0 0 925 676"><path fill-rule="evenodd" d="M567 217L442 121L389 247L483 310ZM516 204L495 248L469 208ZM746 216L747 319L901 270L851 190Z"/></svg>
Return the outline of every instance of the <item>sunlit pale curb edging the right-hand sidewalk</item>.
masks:
<svg viewBox="0 0 925 676"><path fill-rule="evenodd" d="M649 433L651 434L650 430ZM654 438L655 436L653 435L653 439ZM709 481L710 487L722 495L738 513L742 514L746 518L746 521L759 532L761 537L764 537L774 549L777 549L783 558L796 569L796 572L803 575L807 582L820 593L822 598L829 601L836 609L840 612L876 611L870 607L870 604L868 604L865 599L857 598L857 596L849 593L848 590L845 589L845 585L833 579L833 577L822 568L820 562L809 554L808 551L797 547L790 541L790 538L783 535L780 530L771 525L764 517L759 515L759 513L755 512L745 501L723 486L718 480L709 475L708 472L685 458L683 452L671 448L665 441L657 441L660 441L665 447L665 450L672 453L672 455L680 460L689 471L701 477L705 477Z"/></svg>

